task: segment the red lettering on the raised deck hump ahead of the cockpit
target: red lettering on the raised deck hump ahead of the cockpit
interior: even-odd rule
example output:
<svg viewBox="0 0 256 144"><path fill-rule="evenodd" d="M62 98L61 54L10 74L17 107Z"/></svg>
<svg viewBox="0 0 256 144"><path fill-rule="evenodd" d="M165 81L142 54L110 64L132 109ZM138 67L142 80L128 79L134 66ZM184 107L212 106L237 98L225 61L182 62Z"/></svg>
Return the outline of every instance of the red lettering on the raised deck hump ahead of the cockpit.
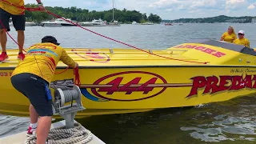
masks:
<svg viewBox="0 0 256 144"><path fill-rule="evenodd" d="M175 46L174 48L190 48L190 49L194 49L194 50L200 50L200 51L202 51L206 54L214 55L217 58L221 58L221 57L226 55L222 52L219 52L217 50L212 50L212 49L207 48L205 46L180 45L180 46Z"/></svg>

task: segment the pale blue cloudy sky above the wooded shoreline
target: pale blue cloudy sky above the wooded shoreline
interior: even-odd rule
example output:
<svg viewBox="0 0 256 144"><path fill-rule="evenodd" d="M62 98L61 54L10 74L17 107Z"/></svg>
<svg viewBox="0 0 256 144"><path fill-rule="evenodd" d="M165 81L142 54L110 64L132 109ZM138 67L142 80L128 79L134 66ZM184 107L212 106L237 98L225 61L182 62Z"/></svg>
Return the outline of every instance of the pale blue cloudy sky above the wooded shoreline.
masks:
<svg viewBox="0 0 256 144"><path fill-rule="evenodd" d="M35 3L36 0L25 0ZM44 6L77 6L87 10L110 10L112 0L42 0ZM256 0L115 0L117 9L153 13L162 19L206 18L218 15L256 16Z"/></svg>

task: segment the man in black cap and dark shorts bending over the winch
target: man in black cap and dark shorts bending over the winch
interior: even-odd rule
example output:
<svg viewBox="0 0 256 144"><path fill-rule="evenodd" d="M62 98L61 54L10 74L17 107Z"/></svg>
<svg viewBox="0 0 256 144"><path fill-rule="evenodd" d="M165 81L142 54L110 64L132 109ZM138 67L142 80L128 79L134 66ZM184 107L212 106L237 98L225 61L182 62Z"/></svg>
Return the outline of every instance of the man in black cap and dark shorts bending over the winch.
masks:
<svg viewBox="0 0 256 144"><path fill-rule="evenodd" d="M53 110L49 84L58 62L62 61L72 68L78 66L58 45L56 38L46 36L42 38L42 43L30 46L26 58L18 64L11 77L14 88L30 100L31 123L27 134L36 130L37 144L46 142L50 130Z"/></svg>

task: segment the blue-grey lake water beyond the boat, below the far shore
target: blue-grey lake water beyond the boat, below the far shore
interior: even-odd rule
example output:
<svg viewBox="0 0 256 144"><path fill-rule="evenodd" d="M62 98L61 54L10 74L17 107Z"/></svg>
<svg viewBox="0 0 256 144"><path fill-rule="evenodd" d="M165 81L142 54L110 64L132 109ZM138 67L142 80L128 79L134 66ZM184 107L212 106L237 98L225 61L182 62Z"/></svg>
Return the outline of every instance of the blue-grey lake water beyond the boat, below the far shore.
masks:
<svg viewBox="0 0 256 144"><path fill-rule="evenodd" d="M187 42L190 38L216 38L220 39L223 32L230 26L229 24L184 24L183 26L107 26L107 27L87 27L99 34L110 38L126 42L132 46L142 49L166 49L170 46ZM250 47L256 47L255 24L232 24L236 34L238 30L245 30L246 38L250 40ZM14 27L11 27L10 34L17 39ZM24 47L29 47L33 43L41 42L41 38L46 35L54 35L63 47L121 47L126 48L118 42L102 38L89 31L78 27L26 27L26 42ZM8 48L18 46L9 38Z"/></svg>

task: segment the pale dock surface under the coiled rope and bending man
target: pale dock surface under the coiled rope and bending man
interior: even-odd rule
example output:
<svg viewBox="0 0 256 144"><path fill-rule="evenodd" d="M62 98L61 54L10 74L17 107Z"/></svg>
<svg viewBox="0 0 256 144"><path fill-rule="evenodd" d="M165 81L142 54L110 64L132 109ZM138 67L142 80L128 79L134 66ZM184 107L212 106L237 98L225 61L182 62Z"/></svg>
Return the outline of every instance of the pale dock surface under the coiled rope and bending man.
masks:
<svg viewBox="0 0 256 144"><path fill-rule="evenodd" d="M61 126L65 126L65 120L53 123L50 129L58 128ZM18 134L13 134L4 138L0 138L0 143L1 144L24 144L26 142L26 138L27 138L26 131L24 131ZM90 140L90 142L87 142L87 144L106 144L106 143L102 142L101 139L99 139L93 134L93 138Z"/></svg>

